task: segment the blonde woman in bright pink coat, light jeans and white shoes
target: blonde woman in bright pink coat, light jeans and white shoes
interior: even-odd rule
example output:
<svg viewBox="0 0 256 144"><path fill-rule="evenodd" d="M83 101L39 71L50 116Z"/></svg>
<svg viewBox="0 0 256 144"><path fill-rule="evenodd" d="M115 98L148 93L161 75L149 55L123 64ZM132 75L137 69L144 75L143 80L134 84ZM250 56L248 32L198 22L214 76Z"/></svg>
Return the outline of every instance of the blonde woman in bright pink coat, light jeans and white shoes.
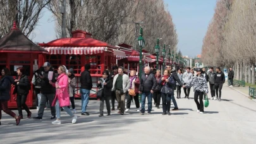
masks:
<svg viewBox="0 0 256 144"><path fill-rule="evenodd" d="M55 105L57 119L53 121L52 124L61 124L61 107L72 117L72 123L76 123L77 116L75 116L68 106L70 105L70 95L68 93L68 76L66 75L66 68L64 66L59 66L58 68L58 78L56 83L51 83L53 87L56 87L56 95L52 102L52 106Z"/></svg>

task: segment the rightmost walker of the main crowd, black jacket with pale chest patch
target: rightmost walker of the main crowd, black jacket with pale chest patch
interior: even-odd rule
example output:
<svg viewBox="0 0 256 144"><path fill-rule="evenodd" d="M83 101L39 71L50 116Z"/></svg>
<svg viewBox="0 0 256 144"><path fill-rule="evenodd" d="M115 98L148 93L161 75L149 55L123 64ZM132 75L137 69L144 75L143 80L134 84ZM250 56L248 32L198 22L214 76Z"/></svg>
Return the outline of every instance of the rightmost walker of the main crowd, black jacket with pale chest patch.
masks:
<svg viewBox="0 0 256 144"><path fill-rule="evenodd" d="M217 100L221 101L221 89L223 84L225 83L225 75L221 71L221 68L219 67L216 68L216 74L214 75L214 83L215 83ZM218 91L219 91L219 97L218 97Z"/></svg>

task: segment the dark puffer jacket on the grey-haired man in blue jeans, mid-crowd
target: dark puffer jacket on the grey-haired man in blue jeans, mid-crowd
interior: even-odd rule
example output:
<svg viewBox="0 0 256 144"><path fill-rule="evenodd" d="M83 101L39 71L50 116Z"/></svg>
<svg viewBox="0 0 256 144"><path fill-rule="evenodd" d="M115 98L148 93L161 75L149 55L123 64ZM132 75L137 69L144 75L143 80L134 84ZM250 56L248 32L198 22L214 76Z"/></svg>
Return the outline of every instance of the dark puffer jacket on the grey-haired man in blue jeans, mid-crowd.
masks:
<svg viewBox="0 0 256 144"><path fill-rule="evenodd" d="M150 73L148 76L146 74L142 75L142 80L140 81L140 92L148 93L150 90L155 90L157 87L157 81L155 80L155 75Z"/></svg>

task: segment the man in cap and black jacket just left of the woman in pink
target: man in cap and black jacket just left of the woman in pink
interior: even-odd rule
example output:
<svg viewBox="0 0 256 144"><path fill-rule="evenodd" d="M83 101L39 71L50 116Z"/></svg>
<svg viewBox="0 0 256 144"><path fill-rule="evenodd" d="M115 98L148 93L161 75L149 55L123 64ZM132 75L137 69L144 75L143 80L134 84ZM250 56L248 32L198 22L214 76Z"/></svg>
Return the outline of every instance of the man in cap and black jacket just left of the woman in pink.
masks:
<svg viewBox="0 0 256 144"><path fill-rule="evenodd" d="M52 73L52 83L55 83L55 75L54 75L54 70L51 68L51 64L49 62L44 63L44 73L42 75L39 75L41 79L41 88L40 88L40 95L41 95L41 100L39 104L39 111L38 111L38 116L33 117L36 120L42 119L42 116L44 114L44 108L46 107L46 102L49 100L49 103L51 105L51 114L52 117L51 119L55 119L56 117L56 110L55 107L52 107L52 101L54 100L54 95L55 95L55 88L49 83L49 72L51 71Z"/></svg>

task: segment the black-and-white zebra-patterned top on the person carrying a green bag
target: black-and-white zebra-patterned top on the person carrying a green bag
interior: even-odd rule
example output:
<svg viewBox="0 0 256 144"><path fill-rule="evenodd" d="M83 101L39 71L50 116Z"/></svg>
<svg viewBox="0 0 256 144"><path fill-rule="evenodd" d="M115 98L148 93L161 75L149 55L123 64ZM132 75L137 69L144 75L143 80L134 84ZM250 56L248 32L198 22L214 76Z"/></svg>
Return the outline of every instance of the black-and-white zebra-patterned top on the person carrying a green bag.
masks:
<svg viewBox="0 0 256 144"><path fill-rule="evenodd" d="M207 82L203 75L194 76L189 83L186 83L186 87L190 88L192 86L194 88L194 92L208 93Z"/></svg>

